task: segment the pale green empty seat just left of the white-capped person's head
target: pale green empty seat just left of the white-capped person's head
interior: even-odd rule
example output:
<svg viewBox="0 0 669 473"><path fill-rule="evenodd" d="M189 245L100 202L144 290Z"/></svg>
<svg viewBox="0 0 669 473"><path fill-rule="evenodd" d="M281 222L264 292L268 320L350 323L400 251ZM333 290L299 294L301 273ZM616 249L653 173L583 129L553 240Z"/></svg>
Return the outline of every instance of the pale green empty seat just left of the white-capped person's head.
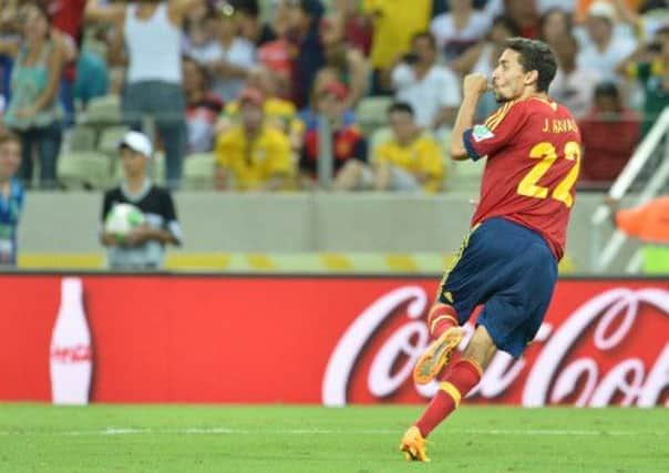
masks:
<svg viewBox="0 0 669 473"><path fill-rule="evenodd" d="M66 189L103 189L111 184L109 156L94 151L70 152L59 156L58 182Z"/></svg>

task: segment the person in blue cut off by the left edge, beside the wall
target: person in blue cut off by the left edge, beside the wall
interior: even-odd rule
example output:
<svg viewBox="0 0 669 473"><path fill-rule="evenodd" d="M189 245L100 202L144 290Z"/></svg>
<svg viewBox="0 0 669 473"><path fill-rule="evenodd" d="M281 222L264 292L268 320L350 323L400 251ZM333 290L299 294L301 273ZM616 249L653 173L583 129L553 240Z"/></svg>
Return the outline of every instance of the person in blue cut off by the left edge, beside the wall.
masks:
<svg viewBox="0 0 669 473"><path fill-rule="evenodd" d="M17 228L23 209L23 187L14 175L20 164L19 137L0 130L0 267L17 266Z"/></svg>

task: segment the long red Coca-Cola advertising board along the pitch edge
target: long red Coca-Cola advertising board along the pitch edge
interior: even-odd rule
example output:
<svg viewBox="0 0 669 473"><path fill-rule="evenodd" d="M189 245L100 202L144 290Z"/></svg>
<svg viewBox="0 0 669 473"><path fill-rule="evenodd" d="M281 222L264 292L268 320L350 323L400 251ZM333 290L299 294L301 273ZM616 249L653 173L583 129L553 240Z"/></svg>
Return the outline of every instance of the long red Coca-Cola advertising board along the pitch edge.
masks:
<svg viewBox="0 0 669 473"><path fill-rule="evenodd" d="M438 282L2 275L0 400L422 403L436 385L411 369ZM523 358L497 353L470 398L669 405L669 281L560 280Z"/></svg>

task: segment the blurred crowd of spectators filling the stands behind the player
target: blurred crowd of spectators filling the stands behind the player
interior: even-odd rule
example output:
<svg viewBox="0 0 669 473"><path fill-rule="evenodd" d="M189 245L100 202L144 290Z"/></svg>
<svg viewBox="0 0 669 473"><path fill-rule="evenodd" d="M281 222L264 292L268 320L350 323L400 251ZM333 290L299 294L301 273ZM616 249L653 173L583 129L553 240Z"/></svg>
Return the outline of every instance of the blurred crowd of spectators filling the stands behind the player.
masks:
<svg viewBox="0 0 669 473"><path fill-rule="evenodd" d="M172 188L189 160L217 189L319 188L327 147L332 189L440 192L462 76L490 75L516 35L558 58L580 186L610 185L669 104L666 1L0 0L0 127L42 188L104 102L152 128Z"/></svg>

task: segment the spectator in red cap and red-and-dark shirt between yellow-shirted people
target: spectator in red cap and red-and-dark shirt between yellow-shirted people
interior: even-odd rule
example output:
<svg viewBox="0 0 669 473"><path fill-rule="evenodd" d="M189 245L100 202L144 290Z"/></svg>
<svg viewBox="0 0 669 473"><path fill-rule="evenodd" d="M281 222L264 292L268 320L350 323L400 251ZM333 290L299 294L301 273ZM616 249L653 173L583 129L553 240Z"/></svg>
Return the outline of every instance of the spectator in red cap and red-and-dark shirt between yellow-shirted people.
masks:
<svg viewBox="0 0 669 473"><path fill-rule="evenodd" d="M359 169L367 163L367 141L356 125L344 125L342 120L343 103L347 90L343 84L332 82L326 84L318 91L317 110L328 120L332 132L332 171L334 191L353 191L359 182L352 177L357 176ZM300 156L301 183L305 187L311 187L318 178L319 158L319 134L318 127L311 128L305 136L305 146Z"/></svg>

